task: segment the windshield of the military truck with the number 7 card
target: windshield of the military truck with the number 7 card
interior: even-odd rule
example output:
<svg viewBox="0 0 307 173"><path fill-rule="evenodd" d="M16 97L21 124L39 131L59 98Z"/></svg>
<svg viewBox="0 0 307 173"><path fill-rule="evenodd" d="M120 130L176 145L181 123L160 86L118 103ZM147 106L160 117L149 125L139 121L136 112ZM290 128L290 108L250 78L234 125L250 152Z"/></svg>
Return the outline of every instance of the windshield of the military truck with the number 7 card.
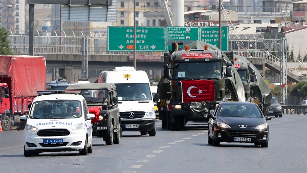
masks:
<svg viewBox="0 0 307 173"><path fill-rule="evenodd" d="M219 79L221 77L221 62L178 63L178 67L173 71L175 80Z"/></svg>

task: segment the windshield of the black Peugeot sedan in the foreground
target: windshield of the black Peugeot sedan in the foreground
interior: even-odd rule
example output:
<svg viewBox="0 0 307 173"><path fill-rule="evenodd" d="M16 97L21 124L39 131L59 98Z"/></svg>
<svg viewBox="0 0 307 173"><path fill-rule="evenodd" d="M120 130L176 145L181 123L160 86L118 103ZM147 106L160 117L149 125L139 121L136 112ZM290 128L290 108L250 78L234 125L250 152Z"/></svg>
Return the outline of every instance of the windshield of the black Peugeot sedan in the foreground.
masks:
<svg viewBox="0 0 307 173"><path fill-rule="evenodd" d="M223 105L220 110L220 117L257 117L262 114L256 106L246 105Z"/></svg>

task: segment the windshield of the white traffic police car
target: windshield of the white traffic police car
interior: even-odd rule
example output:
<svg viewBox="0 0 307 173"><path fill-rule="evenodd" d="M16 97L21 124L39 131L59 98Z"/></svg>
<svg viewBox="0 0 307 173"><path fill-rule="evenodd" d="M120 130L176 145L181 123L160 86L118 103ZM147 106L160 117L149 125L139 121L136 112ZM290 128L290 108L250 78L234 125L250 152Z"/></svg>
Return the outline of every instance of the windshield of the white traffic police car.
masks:
<svg viewBox="0 0 307 173"><path fill-rule="evenodd" d="M34 102L30 110L32 119L62 119L82 116L80 102L74 100L44 100Z"/></svg>

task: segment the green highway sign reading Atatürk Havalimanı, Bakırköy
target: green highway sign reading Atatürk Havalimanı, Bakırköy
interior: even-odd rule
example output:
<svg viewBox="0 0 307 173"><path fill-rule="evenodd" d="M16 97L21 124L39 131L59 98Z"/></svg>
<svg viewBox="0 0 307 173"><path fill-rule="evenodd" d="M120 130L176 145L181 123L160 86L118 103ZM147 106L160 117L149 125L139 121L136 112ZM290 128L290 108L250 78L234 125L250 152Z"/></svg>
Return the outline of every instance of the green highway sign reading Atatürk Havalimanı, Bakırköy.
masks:
<svg viewBox="0 0 307 173"><path fill-rule="evenodd" d="M221 34L221 51L228 51L228 26L222 26ZM200 41L204 41L219 47L219 27L200 27Z"/></svg>

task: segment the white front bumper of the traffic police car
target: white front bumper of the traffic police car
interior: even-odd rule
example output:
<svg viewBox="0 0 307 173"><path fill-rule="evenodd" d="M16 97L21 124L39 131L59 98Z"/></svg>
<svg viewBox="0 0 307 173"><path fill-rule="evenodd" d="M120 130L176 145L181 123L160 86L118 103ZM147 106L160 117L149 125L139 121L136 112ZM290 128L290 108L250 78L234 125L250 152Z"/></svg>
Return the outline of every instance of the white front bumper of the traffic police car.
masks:
<svg viewBox="0 0 307 173"><path fill-rule="evenodd" d="M80 129L72 131L67 129L70 134L67 136L38 136L35 132L25 130L24 145L25 150L29 152L62 152L62 151L80 151L84 148L86 130ZM43 129L45 130L45 129ZM89 134L90 135L90 134ZM44 144L44 139L63 139L63 143ZM76 145L76 142L80 142Z"/></svg>

